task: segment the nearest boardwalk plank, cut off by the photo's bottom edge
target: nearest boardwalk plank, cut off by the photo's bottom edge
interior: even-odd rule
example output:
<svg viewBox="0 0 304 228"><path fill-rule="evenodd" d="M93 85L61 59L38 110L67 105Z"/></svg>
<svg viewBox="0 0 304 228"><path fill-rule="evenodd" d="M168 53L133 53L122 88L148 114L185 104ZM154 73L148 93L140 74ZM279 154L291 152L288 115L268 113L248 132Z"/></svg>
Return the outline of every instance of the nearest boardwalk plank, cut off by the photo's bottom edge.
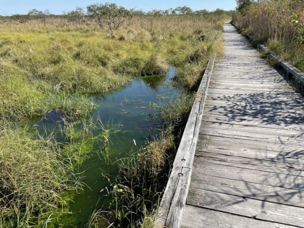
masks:
<svg viewBox="0 0 304 228"><path fill-rule="evenodd" d="M187 205L181 227L188 228L291 228L294 226L213 211Z"/></svg>

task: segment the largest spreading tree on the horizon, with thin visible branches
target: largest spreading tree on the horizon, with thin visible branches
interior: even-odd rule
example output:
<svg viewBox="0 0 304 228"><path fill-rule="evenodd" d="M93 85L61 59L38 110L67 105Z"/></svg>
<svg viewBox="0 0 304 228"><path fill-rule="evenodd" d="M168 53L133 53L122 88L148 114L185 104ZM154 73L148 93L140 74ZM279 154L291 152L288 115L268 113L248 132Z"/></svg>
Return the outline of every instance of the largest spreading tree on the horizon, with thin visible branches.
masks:
<svg viewBox="0 0 304 228"><path fill-rule="evenodd" d="M94 4L87 7L88 16L93 18L100 27L106 24L113 35L113 30L118 29L131 16L131 11L114 3Z"/></svg>

